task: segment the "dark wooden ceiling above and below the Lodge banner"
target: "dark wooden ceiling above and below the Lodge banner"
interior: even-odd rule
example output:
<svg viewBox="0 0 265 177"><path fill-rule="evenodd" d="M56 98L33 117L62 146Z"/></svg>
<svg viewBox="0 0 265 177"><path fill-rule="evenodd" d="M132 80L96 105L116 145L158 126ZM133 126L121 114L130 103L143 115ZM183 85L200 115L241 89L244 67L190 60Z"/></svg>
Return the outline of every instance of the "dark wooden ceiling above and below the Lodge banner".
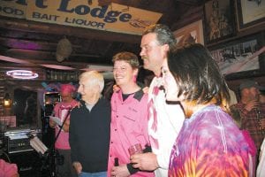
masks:
<svg viewBox="0 0 265 177"><path fill-rule="evenodd" d="M204 4L204 0L112 0L148 11L161 12L158 23L175 30L182 15ZM1 1L0 1L1 3ZM72 54L63 62L56 59L57 43L66 37L72 43ZM34 49L32 46L34 45ZM140 52L140 35L127 35L82 27L66 27L26 19L0 16L0 55L25 59L33 63L74 65L82 63L111 65L111 58L119 51ZM80 65L75 65L80 63ZM1 65L11 65L0 61Z"/></svg>

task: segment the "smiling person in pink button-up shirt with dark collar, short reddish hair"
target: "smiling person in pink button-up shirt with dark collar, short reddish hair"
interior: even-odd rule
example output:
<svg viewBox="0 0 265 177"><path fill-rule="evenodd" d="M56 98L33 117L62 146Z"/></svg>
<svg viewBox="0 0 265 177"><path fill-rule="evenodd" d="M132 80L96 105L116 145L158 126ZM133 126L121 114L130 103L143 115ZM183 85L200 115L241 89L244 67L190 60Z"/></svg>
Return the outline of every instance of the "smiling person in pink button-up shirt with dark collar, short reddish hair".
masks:
<svg viewBox="0 0 265 177"><path fill-rule="evenodd" d="M139 61L130 52L117 53L112 59L113 75L119 90L111 97L110 153L108 176L154 176L130 163L129 147L140 143L150 150L148 141L148 95L136 83ZM118 165L115 166L115 158Z"/></svg>

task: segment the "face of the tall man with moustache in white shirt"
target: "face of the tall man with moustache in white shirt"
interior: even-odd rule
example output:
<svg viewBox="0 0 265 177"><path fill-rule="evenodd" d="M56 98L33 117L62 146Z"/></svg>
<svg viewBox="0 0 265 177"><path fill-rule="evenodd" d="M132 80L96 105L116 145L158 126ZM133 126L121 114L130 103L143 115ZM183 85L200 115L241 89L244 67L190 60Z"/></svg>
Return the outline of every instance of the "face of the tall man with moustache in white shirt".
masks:
<svg viewBox="0 0 265 177"><path fill-rule="evenodd" d="M160 45L155 33L143 35L140 42L140 57L143 59L144 68L160 76L163 60L169 50L168 44Z"/></svg>

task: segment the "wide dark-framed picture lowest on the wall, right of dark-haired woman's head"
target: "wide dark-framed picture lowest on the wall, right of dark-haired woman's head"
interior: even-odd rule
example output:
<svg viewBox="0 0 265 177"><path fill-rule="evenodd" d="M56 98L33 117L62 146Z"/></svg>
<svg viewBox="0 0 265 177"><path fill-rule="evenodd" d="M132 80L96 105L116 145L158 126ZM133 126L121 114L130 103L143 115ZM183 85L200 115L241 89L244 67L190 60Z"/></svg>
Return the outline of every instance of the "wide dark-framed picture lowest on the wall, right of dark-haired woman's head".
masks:
<svg viewBox="0 0 265 177"><path fill-rule="evenodd" d="M261 73L265 68L262 66L265 47L262 44L261 34L250 35L241 39L225 42L209 48L213 58L224 75Z"/></svg>

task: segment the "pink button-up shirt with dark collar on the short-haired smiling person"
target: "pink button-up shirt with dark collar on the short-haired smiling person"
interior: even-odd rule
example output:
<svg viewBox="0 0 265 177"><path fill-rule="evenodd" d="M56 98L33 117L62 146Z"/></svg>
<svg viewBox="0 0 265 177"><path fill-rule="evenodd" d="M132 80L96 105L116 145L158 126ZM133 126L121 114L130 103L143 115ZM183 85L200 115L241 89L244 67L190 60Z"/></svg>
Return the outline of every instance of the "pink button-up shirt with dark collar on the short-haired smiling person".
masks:
<svg viewBox="0 0 265 177"><path fill-rule="evenodd" d="M142 90L130 95L123 101L122 92L111 97L110 152L108 176L118 158L119 165L129 164L128 148L140 143L142 148L148 141L148 95ZM154 176L154 173L134 173L131 176Z"/></svg>

